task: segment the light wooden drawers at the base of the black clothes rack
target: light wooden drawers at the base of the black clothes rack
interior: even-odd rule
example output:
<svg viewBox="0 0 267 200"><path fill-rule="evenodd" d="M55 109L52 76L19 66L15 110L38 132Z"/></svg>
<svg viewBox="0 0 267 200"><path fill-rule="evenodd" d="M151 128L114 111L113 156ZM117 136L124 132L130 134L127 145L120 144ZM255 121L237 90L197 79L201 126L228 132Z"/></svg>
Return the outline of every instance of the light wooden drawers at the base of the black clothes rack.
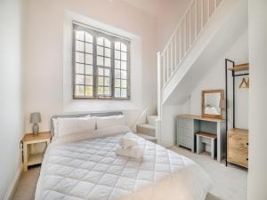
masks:
<svg viewBox="0 0 267 200"><path fill-rule="evenodd" d="M245 129L231 129L230 131L228 131L227 142L228 162L247 168L248 131Z"/></svg>

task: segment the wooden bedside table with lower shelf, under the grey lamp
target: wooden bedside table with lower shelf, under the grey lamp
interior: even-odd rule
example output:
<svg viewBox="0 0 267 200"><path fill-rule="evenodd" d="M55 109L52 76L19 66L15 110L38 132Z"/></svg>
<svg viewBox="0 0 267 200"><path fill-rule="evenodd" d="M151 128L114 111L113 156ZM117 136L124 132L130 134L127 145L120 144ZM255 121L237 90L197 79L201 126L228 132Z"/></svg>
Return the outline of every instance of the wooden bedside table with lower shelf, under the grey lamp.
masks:
<svg viewBox="0 0 267 200"><path fill-rule="evenodd" d="M28 171L28 166L34 164L42 164L44 153L31 155L28 153L28 146L31 148L32 144L46 143L46 148L48 147L51 140L50 132L39 132L39 134L34 135L32 133L26 134L22 139L23 143L23 169L24 172Z"/></svg>

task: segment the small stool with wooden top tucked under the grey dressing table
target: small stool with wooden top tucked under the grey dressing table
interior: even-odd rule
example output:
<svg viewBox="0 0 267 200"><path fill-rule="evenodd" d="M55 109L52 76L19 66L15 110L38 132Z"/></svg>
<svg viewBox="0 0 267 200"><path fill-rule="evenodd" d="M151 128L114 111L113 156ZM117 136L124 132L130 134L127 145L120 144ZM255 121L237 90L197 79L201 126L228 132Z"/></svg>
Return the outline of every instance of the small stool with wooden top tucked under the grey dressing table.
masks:
<svg viewBox="0 0 267 200"><path fill-rule="evenodd" d="M217 135L208 132L198 132L197 134L197 154L205 150L206 145L210 145L210 153L212 158L215 156L215 146Z"/></svg>

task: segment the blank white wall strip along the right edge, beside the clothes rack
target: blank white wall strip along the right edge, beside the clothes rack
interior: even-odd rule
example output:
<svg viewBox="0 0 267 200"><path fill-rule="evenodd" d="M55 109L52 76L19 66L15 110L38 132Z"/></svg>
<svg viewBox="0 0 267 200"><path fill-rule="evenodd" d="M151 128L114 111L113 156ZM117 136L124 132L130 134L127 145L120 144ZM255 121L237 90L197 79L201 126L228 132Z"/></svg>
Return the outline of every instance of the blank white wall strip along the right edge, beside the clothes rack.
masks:
<svg viewBox="0 0 267 200"><path fill-rule="evenodd" d="M248 200L267 199L266 55L267 1L249 0L249 146Z"/></svg>

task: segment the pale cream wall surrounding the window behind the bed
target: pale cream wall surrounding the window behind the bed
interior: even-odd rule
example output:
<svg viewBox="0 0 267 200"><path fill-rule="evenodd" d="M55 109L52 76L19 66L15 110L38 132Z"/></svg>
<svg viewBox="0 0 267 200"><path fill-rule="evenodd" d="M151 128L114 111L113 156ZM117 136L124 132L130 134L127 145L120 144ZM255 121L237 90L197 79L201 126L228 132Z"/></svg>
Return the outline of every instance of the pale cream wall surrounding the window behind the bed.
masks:
<svg viewBox="0 0 267 200"><path fill-rule="evenodd" d="M33 111L40 111L43 122L41 131L50 129L49 120L54 114L73 111L93 111L95 102L77 100L69 104L64 97L64 22L66 11L75 12L88 19L100 21L113 28L124 30L142 40L140 64L131 66L138 71L140 80L134 90L140 105L121 103L121 101L102 100L101 110L120 109L128 117L128 123L142 113L151 101L157 100L157 20L124 1L109 0L26 0L26 131L30 132L28 116ZM101 12L100 12L101 11ZM45 26L43 26L45 25ZM149 26L148 26L149 25ZM135 62L138 63L138 62ZM134 73L133 73L134 74ZM136 86L137 84L134 84ZM70 105L70 107L69 107ZM120 106L119 106L120 105Z"/></svg>

